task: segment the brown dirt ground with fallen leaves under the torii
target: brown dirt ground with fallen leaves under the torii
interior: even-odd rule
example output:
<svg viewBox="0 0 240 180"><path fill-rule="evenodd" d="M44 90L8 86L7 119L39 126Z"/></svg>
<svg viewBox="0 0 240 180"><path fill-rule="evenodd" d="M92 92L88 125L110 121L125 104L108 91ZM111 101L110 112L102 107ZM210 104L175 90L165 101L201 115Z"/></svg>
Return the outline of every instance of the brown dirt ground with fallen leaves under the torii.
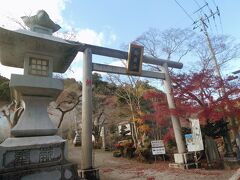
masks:
<svg viewBox="0 0 240 180"><path fill-rule="evenodd" d="M69 148L69 158L80 168L79 147ZM240 170L181 170L168 167L169 162L140 163L126 158L115 158L112 152L94 150L94 167L100 171L101 180L237 180Z"/></svg>

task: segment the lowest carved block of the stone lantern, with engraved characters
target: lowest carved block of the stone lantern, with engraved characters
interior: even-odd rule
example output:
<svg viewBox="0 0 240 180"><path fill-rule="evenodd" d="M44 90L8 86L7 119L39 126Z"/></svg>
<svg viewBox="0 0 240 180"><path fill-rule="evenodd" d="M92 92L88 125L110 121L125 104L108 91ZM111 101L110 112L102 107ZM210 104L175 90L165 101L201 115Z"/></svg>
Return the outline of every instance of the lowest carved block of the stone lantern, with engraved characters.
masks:
<svg viewBox="0 0 240 180"><path fill-rule="evenodd" d="M59 136L8 138L0 145L0 179L76 179L77 165L67 160Z"/></svg>

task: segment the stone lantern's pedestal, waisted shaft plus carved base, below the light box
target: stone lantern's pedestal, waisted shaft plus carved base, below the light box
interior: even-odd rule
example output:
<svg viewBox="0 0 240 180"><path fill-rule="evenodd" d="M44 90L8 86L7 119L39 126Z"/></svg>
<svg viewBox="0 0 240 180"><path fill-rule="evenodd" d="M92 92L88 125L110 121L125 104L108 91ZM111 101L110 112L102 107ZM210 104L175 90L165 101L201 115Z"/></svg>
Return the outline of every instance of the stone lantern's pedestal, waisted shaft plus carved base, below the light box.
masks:
<svg viewBox="0 0 240 180"><path fill-rule="evenodd" d="M11 76L16 99L24 102L24 112L11 130L14 138L0 145L0 179L74 180L77 165L67 160L67 143L56 136L47 107L63 89L63 82L51 77Z"/></svg>

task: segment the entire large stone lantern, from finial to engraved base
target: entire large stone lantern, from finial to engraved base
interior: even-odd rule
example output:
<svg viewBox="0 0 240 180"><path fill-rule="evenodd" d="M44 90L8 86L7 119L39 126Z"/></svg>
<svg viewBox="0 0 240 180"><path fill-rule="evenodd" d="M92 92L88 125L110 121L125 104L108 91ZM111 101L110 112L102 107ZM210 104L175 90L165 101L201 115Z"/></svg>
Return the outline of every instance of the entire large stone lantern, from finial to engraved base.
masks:
<svg viewBox="0 0 240 180"><path fill-rule="evenodd" d="M67 70L78 46L52 36L60 26L43 10L22 19L30 30L0 28L0 62L24 69L24 75L11 75L12 97L24 102L24 112L12 137L0 144L0 179L77 179L77 166L67 160L67 142L56 135L47 106L63 90L53 72Z"/></svg>

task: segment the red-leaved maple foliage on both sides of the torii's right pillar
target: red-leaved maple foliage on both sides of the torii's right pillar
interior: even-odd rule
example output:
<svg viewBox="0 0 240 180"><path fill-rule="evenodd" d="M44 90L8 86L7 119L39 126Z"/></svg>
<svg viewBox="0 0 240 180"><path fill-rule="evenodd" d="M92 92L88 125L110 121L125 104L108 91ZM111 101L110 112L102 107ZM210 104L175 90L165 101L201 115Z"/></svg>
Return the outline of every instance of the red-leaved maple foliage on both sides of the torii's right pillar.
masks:
<svg viewBox="0 0 240 180"><path fill-rule="evenodd" d="M197 73L172 75L175 110L168 108L163 92L146 92L144 99L150 101L153 112L146 115L145 119L155 121L163 128L169 128L171 114L182 120L199 118L203 126L227 117L239 117L239 80L233 76L221 79L213 72L205 69ZM170 135L171 133L166 133L163 139L168 141Z"/></svg>

